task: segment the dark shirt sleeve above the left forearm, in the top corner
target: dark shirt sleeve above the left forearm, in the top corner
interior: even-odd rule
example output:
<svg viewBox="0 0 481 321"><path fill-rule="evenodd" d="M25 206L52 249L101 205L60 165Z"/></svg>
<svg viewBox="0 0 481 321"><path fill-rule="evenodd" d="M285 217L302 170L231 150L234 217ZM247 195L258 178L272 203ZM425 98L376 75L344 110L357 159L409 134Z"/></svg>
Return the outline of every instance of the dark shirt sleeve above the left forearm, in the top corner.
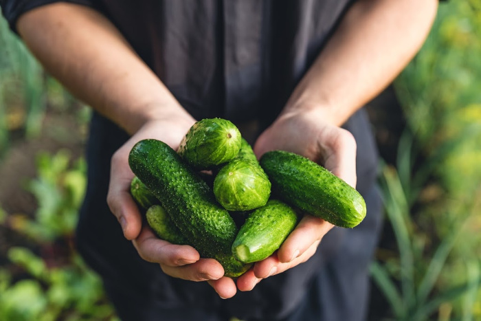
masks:
<svg viewBox="0 0 481 321"><path fill-rule="evenodd" d="M10 29L13 32L17 33L16 30L16 21L19 17L24 14L25 12L32 10L34 8L38 8L42 5L47 5L50 3L56 2L67 2L67 3L76 3L80 5L87 5L89 7L93 7L93 1L91 0L67 0L67 1L60 1L60 0L0 0L0 8L1 13L8 21L8 25L10 25Z"/></svg>

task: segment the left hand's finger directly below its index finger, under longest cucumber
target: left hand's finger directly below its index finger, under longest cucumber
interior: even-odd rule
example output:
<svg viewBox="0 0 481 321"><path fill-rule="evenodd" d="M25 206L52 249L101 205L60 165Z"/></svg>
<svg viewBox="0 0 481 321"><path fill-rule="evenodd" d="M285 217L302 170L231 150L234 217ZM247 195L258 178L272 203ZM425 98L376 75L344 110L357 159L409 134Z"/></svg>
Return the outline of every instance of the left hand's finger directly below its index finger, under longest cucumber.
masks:
<svg viewBox="0 0 481 321"><path fill-rule="evenodd" d="M160 265L165 274L173 278L181 278L190 281L219 280L224 276L224 269L221 263L213 258L201 258L199 261L172 267L168 265Z"/></svg>

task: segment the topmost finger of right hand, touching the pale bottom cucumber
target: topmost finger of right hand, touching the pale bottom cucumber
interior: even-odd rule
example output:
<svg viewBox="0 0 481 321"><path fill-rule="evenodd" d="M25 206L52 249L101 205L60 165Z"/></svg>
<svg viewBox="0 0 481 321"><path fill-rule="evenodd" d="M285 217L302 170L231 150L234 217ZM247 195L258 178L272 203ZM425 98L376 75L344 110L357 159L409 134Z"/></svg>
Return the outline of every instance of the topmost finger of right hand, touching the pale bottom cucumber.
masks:
<svg viewBox="0 0 481 321"><path fill-rule="evenodd" d="M333 228L334 225L306 214L295 229L289 234L278 250L278 260L287 263L295 260L304 253L315 241L320 241L322 237Z"/></svg>

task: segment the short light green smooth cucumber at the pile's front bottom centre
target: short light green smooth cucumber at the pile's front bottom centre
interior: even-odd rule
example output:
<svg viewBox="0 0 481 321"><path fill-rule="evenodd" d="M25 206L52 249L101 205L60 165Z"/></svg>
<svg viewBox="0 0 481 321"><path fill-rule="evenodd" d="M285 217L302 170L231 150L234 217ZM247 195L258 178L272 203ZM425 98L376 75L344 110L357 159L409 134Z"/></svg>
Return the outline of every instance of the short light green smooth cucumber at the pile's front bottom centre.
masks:
<svg viewBox="0 0 481 321"><path fill-rule="evenodd" d="M262 261L278 250L298 222L298 216L286 203L271 199L252 212L232 244L239 261Z"/></svg>

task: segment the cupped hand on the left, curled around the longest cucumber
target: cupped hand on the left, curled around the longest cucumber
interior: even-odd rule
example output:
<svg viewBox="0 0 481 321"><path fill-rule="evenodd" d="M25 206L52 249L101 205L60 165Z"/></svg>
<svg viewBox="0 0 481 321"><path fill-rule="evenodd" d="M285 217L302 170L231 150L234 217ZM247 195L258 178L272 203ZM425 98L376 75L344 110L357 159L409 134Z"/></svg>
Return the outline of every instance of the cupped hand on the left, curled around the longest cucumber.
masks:
<svg viewBox="0 0 481 321"><path fill-rule="evenodd" d="M192 281L208 280L222 298L236 294L232 278L224 275L222 265L212 258L200 258L199 252L189 245L174 245L159 239L147 225L130 194L134 177L128 166L128 154L135 143L153 138L177 150L194 119L190 117L151 120L146 122L111 159L111 175L107 203L118 219L126 239L131 240L144 260L158 263L164 273L175 278Z"/></svg>

